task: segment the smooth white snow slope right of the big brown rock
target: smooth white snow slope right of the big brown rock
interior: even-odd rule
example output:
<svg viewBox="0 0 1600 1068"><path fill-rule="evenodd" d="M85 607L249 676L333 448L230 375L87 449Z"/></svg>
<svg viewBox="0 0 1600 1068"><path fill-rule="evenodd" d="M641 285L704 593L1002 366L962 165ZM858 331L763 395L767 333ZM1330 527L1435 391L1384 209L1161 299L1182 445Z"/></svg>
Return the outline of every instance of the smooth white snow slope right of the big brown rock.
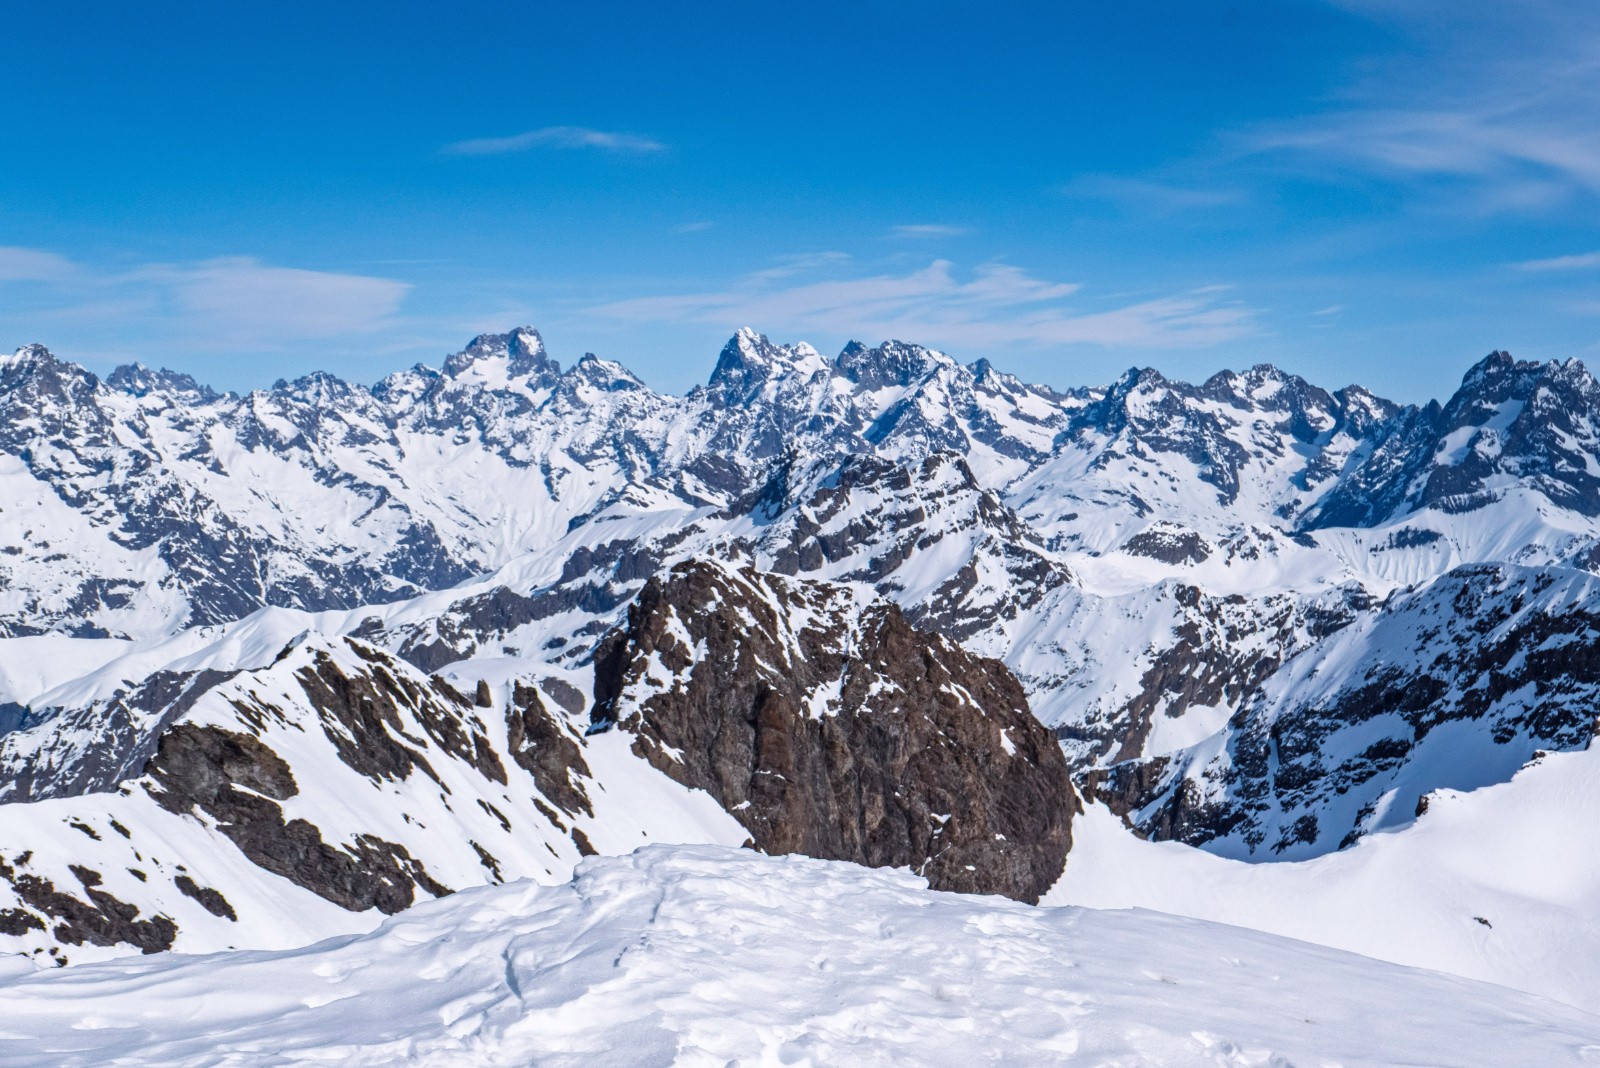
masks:
<svg viewBox="0 0 1600 1068"><path fill-rule="evenodd" d="M1299 862L1142 841L1088 806L1045 902L1240 924L1600 1012L1597 825L1594 748L1542 755L1498 785L1434 791L1403 830Z"/></svg>

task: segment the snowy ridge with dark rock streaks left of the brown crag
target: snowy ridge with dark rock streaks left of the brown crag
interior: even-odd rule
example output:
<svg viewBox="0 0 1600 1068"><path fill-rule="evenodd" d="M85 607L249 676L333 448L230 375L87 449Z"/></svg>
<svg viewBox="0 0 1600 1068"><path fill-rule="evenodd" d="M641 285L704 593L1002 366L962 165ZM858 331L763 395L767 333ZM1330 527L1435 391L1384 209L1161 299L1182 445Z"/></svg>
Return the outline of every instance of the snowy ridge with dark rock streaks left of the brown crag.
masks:
<svg viewBox="0 0 1600 1068"><path fill-rule="evenodd" d="M536 676L469 697L309 633L262 668L166 679L3 739L34 799L0 820L0 951L285 948L470 886L558 883L597 851L746 839L626 737L584 737Z"/></svg>

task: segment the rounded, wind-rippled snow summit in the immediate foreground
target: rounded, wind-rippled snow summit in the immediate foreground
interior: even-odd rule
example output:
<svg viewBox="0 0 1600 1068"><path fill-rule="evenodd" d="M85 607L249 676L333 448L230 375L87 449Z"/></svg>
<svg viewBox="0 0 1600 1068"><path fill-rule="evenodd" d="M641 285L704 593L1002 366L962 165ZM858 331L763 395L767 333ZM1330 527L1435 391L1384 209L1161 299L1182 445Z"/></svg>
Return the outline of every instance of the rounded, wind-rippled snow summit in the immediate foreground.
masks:
<svg viewBox="0 0 1600 1068"><path fill-rule="evenodd" d="M718 847L368 935L0 980L6 1065L1574 1065L1600 1017L1144 911Z"/></svg>

